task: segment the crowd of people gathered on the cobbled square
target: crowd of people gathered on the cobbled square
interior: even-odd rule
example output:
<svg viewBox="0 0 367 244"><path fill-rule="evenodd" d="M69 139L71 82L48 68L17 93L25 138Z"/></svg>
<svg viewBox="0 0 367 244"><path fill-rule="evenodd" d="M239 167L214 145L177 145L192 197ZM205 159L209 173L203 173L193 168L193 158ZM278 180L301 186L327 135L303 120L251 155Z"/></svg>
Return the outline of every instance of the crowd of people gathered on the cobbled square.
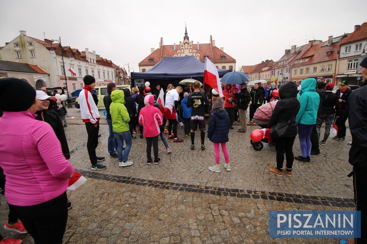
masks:
<svg viewBox="0 0 367 244"><path fill-rule="evenodd" d="M367 58L360 65L359 74L365 84ZM103 170L107 168L101 164L105 157L96 154L101 117L97 109L98 100L92 95L95 79L86 75L83 81L79 104L87 131L91 170ZM115 83L109 83L103 98L109 127L107 150L111 157L118 159L119 167L132 165L129 153L132 141L137 138L134 134L139 132L139 137L146 139L147 164L159 164L159 138L167 153L171 153L168 142L183 142L177 133L178 123L182 120L185 137L190 136L188 147L191 150L195 150L197 131L200 131L200 149L206 150L204 142L207 131L215 154L215 165L208 169L221 172L221 147L225 159L224 169L231 171L226 149L230 129L235 123L240 123L238 132L246 132L247 125L256 125L252 121L255 111L266 102L277 100L267 125L267 128L271 128L270 135L276 149L276 167L269 168L269 172L277 176L283 176L284 173L292 176L294 159L311 162L311 155L320 153L319 145L326 145L333 123L338 128L333 139L345 140L345 123L349 117L353 139L349 154L353 171L349 176L353 176L356 209L361 211L361 225L366 227L367 198L361 192L367 186L367 86L352 92L348 85L348 81L340 82L339 89L333 93L332 83L314 78L297 83L286 82L279 90L275 83L270 84L271 88L267 83L264 87L257 83L248 89L243 82L239 86L226 85L224 96L219 97L205 92L200 82L195 81L188 87L169 84L163 101L158 101L163 92L160 85L147 93L143 86L132 88L130 92L130 89L117 90ZM12 93L15 89L21 92ZM0 187L6 189L9 205L8 221L4 228L29 233L35 243L57 244L62 243L68 209L72 206L66 196L66 187L74 168L68 162L70 152L63 128L67 126L66 109L44 90L34 91L29 83L16 78L0 79L0 108L3 110L0 118L0 155L3 156L0 162L3 171L3 174L0 172ZM180 106L182 113L178 112ZM250 118L247 122L248 107ZM206 115L209 115L208 126ZM324 122L325 132L320 140L320 128ZM302 154L294 156L293 145L297 135ZM152 146L154 158L151 155ZM0 236L0 243L20 242ZM361 239L355 243L366 243L366 233L362 232Z"/></svg>

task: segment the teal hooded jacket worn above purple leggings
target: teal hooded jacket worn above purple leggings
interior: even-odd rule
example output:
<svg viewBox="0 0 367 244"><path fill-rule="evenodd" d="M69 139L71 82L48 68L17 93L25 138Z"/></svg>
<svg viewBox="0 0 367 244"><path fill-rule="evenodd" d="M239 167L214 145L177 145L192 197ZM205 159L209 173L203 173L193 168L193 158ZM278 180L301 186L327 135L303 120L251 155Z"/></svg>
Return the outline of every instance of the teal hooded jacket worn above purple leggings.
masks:
<svg viewBox="0 0 367 244"><path fill-rule="evenodd" d="M297 124L316 124L317 110L320 105L320 96L316 92L317 81L314 78L308 78L302 81L301 91L297 98L301 107L296 116Z"/></svg>

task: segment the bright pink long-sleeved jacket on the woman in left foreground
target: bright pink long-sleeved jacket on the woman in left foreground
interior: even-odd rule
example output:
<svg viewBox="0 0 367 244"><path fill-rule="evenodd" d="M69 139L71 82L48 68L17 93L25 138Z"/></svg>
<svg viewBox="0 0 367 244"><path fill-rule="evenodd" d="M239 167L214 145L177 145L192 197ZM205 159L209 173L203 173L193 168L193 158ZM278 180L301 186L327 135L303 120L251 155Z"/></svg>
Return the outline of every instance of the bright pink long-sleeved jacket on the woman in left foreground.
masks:
<svg viewBox="0 0 367 244"><path fill-rule="evenodd" d="M0 166L12 205L32 206L58 197L74 171L51 126L35 117L24 111L4 112L0 118Z"/></svg>

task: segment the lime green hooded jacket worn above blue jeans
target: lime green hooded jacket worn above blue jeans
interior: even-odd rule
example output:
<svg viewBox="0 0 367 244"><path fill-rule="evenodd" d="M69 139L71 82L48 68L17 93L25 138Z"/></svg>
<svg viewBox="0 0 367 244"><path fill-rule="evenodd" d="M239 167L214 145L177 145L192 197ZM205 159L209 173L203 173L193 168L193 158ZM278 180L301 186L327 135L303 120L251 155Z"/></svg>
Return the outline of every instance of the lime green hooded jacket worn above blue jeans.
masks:
<svg viewBox="0 0 367 244"><path fill-rule="evenodd" d="M112 119L113 132L124 132L129 130L130 116L124 105L124 91L115 90L111 93L112 104L110 114Z"/></svg>

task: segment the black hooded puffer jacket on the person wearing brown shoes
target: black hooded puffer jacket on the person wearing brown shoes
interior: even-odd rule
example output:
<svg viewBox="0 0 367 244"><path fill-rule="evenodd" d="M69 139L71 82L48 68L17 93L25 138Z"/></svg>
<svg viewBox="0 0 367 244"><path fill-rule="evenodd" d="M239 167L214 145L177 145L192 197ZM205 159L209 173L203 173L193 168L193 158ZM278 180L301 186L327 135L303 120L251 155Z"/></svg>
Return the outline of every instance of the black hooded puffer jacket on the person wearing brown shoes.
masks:
<svg viewBox="0 0 367 244"><path fill-rule="evenodd" d="M275 105L272 116L270 117L268 128L278 122L288 122L288 130L284 137L297 135L296 116L299 110L299 101L297 100L297 85L295 82L286 82L279 88L279 97Z"/></svg>

